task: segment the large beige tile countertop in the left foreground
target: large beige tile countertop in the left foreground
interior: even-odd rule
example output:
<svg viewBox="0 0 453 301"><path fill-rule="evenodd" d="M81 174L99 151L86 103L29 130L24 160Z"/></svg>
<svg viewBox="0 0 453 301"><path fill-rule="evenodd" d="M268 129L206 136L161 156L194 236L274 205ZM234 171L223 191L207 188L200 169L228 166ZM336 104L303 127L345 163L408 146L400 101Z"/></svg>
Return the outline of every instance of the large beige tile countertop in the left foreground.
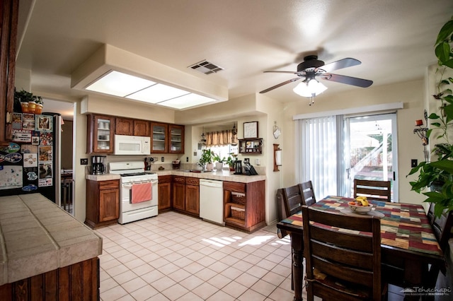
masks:
<svg viewBox="0 0 453 301"><path fill-rule="evenodd" d="M0 285L102 254L102 238L41 194L0 197Z"/></svg>

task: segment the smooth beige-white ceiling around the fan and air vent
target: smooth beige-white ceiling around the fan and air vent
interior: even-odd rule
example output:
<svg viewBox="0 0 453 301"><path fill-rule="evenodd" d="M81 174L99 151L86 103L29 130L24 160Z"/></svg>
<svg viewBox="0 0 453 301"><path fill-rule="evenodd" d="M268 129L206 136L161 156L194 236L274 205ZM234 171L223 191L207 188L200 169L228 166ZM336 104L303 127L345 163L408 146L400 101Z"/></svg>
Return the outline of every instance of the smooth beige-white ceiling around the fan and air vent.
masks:
<svg viewBox="0 0 453 301"><path fill-rule="evenodd" d="M333 73L373 85L423 78L435 63L435 37L453 15L453 1L24 0L20 10L25 30L17 66L32 70L33 91L85 95L70 88L71 73L109 44L225 85L229 98L236 98L294 78L263 71L296 71L306 54L326 63L359 59L361 65ZM203 59L224 71L205 75L187 68ZM361 89L323 83L331 95ZM299 101L295 85L266 95Z"/></svg>

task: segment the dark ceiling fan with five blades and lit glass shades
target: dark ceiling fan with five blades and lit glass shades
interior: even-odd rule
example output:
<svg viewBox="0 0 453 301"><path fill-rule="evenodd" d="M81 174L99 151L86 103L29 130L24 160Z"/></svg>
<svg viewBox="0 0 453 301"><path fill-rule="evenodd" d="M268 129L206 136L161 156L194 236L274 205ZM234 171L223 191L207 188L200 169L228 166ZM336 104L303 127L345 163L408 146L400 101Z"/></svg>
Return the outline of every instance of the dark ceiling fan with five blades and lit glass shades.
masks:
<svg viewBox="0 0 453 301"><path fill-rule="evenodd" d="M343 76L339 74L333 74L330 73L333 70L338 70L338 69L343 69L346 67L352 67L356 65L362 64L358 59L352 59L350 57L345 58L345 59L340 59L339 61L333 61L330 64L324 64L323 61L320 61L318 59L318 56L316 55L309 55L307 57L304 57L304 61L297 65L297 71L264 71L265 73L267 72L273 72L273 73L293 73L296 74L298 77L297 78L292 78L289 79L288 81L284 81L283 83L279 83L278 85L274 85L273 87L267 88L265 90L262 90L260 93L266 93L269 92L270 90L274 90L275 88L279 88L282 85L286 85L287 83L294 83L294 81L299 81L299 79L303 79L302 87L304 86L309 87L309 85L312 85L312 89L309 89L308 91L299 91L301 93L298 93L296 90L299 85L294 88L294 92L306 96L306 97L311 97L313 98L314 96L318 95L319 93L322 93L323 90L326 90L326 87L321 84L321 91L319 90L314 90L315 84L319 84L319 81L316 78L322 78L323 80L326 81L336 81L337 83L345 83L347 85L356 85L357 87L362 87L362 88L367 88L370 85L372 85L373 81L369 81L367 79L363 78L355 78L352 76ZM314 81L312 81L314 80ZM299 88L299 89L300 89Z"/></svg>

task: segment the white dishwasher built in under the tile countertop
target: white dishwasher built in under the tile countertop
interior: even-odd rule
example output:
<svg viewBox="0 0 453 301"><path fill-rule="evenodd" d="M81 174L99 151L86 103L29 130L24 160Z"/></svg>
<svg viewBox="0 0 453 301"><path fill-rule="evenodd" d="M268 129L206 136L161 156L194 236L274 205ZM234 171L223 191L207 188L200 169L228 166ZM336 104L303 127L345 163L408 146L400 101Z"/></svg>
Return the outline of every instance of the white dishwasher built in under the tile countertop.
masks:
<svg viewBox="0 0 453 301"><path fill-rule="evenodd" d="M200 218L225 225L222 181L200 179Z"/></svg>

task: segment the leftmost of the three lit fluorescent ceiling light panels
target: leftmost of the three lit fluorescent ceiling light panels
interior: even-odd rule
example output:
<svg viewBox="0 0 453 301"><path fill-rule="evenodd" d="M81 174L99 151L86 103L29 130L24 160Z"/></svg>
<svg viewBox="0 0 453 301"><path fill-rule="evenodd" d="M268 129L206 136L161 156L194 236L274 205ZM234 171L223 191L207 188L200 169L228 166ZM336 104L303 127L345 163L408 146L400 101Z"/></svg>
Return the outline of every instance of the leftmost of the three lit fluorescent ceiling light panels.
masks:
<svg viewBox="0 0 453 301"><path fill-rule="evenodd" d="M125 97L137 90L142 90L154 84L154 81L149 81L118 71L112 71L102 78L99 78L98 81L88 85L86 90Z"/></svg>

